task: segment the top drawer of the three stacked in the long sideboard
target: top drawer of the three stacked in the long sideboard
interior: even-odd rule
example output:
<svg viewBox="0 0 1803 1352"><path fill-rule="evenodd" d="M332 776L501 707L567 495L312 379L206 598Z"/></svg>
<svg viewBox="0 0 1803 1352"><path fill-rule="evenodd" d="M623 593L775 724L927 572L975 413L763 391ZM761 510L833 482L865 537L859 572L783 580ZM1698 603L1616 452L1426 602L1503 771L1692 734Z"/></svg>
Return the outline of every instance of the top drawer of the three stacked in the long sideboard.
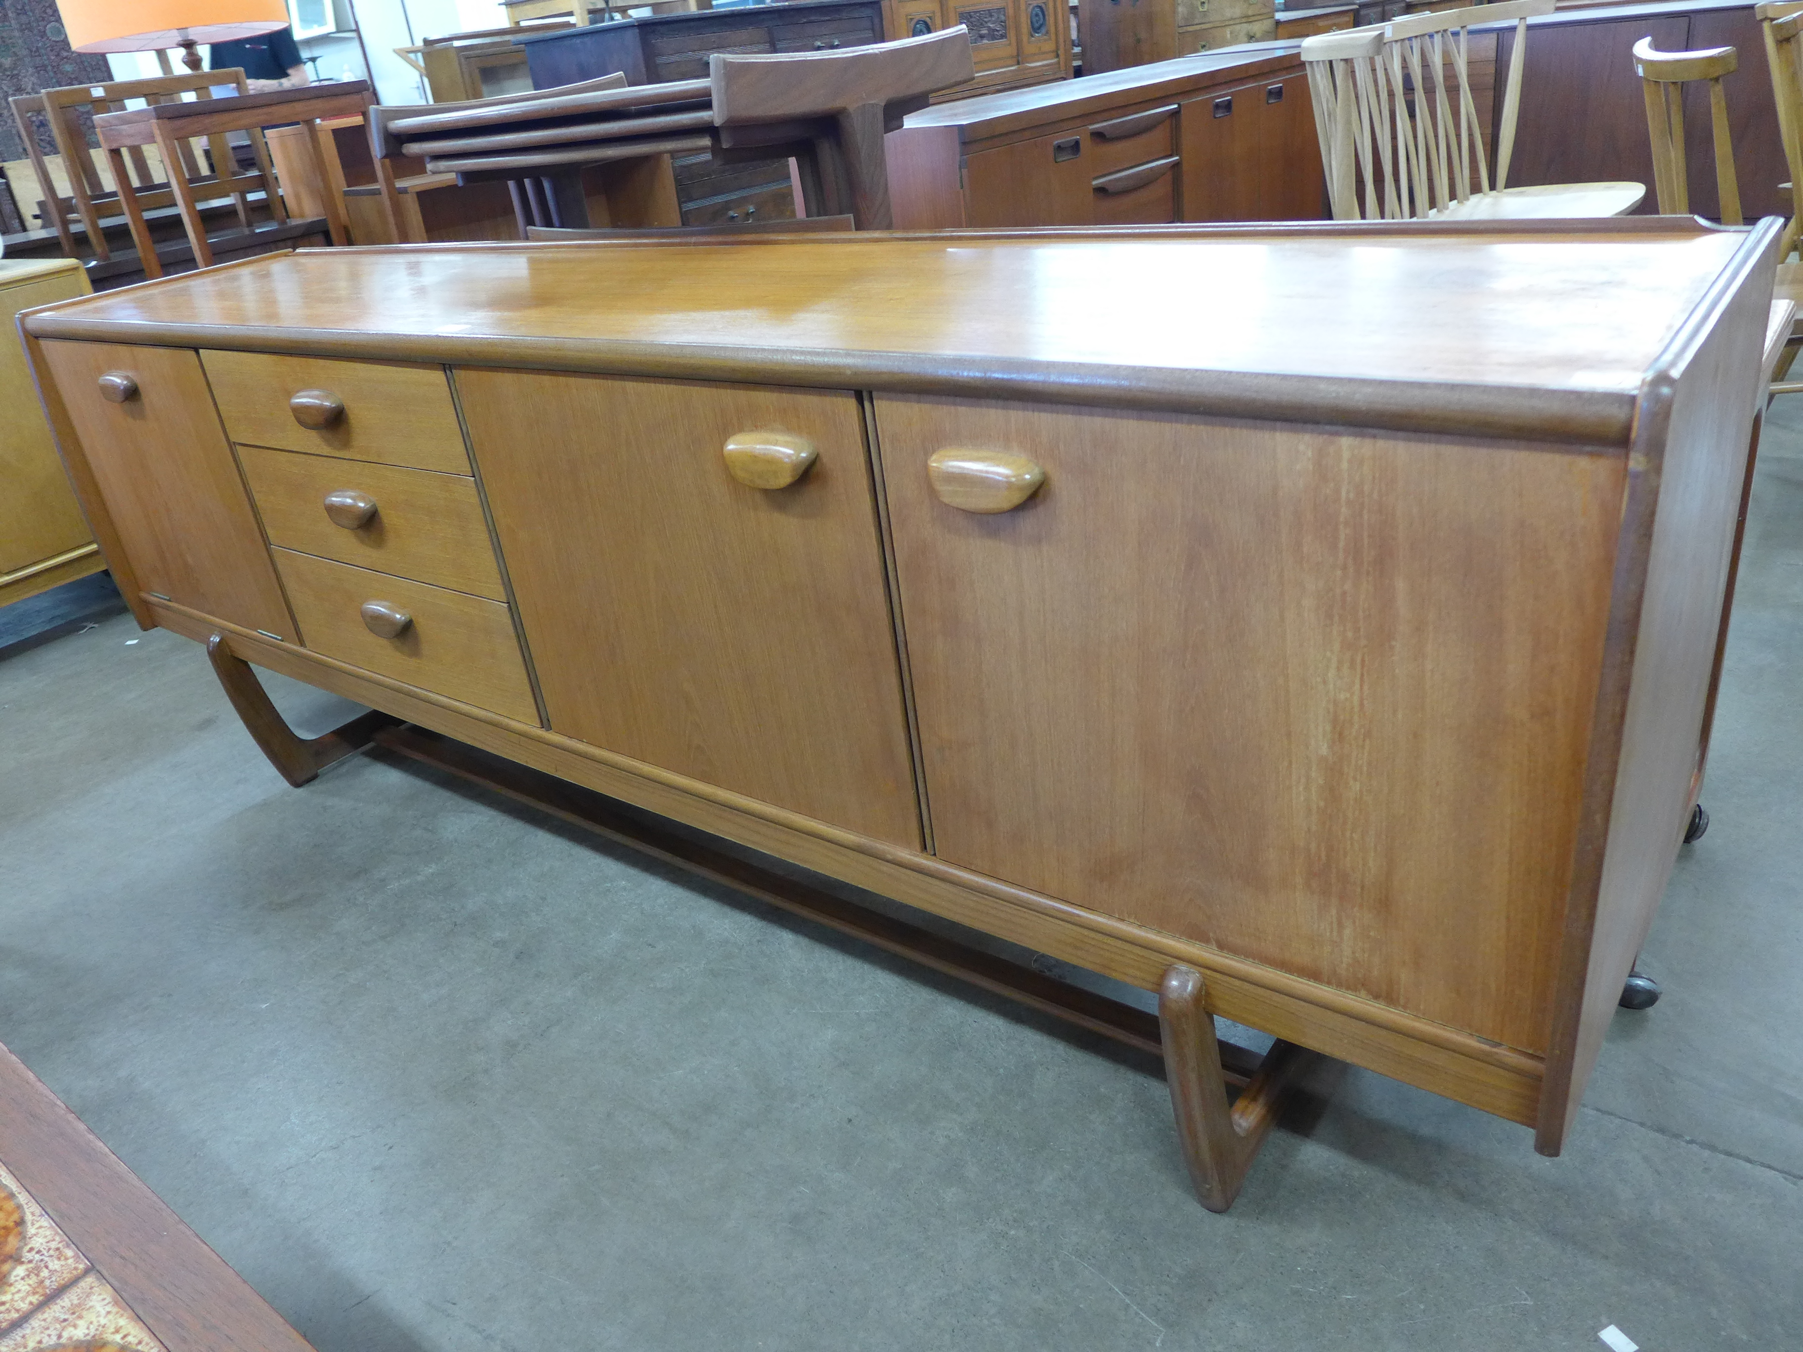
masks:
<svg viewBox="0 0 1803 1352"><path fill-rule="evenodd" d="M312 451L346 460L469 474L463 431L451 404L442 366L350 362L330 357L285 357L272 352L202 352L213 398L234 442ZM303 391L335 398L297 413ZM307 425L310 416L321 425Z"/></svg>

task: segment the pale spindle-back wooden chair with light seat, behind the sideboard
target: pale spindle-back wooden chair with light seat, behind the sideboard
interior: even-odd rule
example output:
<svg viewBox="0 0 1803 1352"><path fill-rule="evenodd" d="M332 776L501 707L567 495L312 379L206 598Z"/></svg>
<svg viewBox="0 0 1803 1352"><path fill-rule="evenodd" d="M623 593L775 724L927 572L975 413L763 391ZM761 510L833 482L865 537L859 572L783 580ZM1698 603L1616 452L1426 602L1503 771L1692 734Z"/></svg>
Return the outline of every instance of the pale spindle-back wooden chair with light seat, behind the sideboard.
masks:
<svg viewBox="0 0 1803 1352"><path fill-rule="evenodd" d="M1554 0L1506 0L1304 38L1334 218L1576 218L1619 216L1639 206L1643 184L1507 186L1527 20L1552 9ZM1471 92L1469 27L1509 20L1515 41L1491 128Z"/></svg>

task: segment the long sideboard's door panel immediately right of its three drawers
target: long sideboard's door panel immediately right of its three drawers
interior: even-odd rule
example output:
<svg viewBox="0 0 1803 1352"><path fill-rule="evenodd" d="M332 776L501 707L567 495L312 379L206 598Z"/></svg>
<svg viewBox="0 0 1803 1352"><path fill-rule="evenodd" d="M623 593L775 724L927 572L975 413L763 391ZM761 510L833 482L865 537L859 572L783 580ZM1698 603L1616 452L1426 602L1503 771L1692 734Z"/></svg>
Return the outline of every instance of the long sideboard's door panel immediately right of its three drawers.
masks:
<svg viewBox="0 0 1803 1352"><path fill-rule="evenodd" d="M456 373L554 732L920 847L858 400ZM792 485L728 438L813 447Z"/></svg>

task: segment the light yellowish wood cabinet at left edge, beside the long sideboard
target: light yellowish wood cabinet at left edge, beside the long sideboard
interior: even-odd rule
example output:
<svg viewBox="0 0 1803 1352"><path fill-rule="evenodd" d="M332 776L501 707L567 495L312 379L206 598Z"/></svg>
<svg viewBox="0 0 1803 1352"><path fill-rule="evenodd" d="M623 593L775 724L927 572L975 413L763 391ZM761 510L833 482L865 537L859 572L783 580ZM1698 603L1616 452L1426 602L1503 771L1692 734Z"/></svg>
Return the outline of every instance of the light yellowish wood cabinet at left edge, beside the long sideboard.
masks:
<svg viewBox="0 0 1803 1352"><path fill-rule="evenodd" d="M13 315L88 294L72 258L0 260L0 606L105 568L38 411Z"/></svg>

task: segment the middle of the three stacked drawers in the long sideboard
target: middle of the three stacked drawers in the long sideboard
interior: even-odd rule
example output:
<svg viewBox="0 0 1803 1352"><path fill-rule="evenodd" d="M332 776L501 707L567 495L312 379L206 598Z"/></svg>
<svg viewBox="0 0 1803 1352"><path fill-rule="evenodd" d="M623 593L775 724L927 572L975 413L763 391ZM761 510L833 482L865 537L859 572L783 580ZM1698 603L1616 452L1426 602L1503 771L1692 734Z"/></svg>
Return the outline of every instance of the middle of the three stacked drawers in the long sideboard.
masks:
<svg viewBox="0 0 1803 1352"><path fill-rule="evenodd" d="M474 480L260 445L238 447L238 463L270 544L507 600ZM330 494L362 494L375 510L355 525L339 507L334 521Z"/></svg>

